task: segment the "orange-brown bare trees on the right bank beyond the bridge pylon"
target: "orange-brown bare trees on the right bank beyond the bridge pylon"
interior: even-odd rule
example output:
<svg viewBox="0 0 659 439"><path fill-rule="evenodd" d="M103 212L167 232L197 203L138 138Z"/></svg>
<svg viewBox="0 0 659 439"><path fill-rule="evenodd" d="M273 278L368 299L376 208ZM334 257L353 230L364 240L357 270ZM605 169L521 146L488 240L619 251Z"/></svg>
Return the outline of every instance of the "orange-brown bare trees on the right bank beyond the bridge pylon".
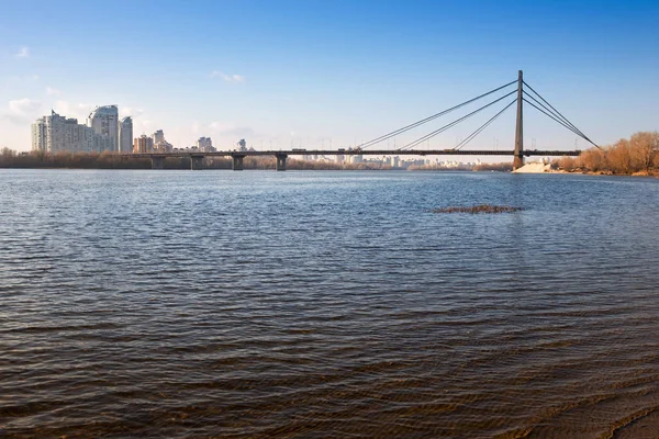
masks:
<svg viewBox="0 0 659 439"><path fill-rule="evenodd" d="M552 162L566 172L590 172L605 175L659 175L659 132L639 132L629 139L591 148L579 157L562 157Z"/></svg>

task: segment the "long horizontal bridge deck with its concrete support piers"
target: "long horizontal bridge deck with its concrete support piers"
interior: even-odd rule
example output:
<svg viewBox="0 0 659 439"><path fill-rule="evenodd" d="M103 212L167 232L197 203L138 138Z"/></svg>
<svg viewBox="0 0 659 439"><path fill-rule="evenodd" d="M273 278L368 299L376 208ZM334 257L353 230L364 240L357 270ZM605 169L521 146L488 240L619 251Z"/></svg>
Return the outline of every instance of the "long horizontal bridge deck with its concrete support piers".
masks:
<svg viewBox="0 0 659 439"><path fill-rule="evenodd" d="M526 157L539 156L539 157L562 157L562 156L579 156L580 150L538 150L538 149L526 149L523 155ZM204 157L232 157L233 169L243 170L243 159L245 157L263 157L263 156L275 156L277 158L276 169L278 171L286 170L286 159L288 156L514 156L513 150L458 150L458 149L286 149L286 150L252 150L252 151L236 151L236 150L224 150L214 153L201 153L201 151L175 151L175 153L137 153L137 154L122 154L122 157L129 158L150 158L153 169L163 169L164 161L168 157L172 158L190 158L190 168L193 170L202 169L202 160Z"/></svg>

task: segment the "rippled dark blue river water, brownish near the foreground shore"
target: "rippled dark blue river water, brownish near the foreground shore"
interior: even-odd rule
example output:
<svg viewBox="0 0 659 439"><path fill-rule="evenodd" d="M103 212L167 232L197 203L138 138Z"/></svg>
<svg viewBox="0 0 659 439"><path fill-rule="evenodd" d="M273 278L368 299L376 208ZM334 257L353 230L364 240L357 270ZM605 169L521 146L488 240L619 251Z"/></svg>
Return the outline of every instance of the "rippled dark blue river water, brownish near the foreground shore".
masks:
<svg viewBox="0 0 659 439"><path fill-rule="evenodd" d="M659 180L0 170L0 297L1 437L659 436Z"/></svg>

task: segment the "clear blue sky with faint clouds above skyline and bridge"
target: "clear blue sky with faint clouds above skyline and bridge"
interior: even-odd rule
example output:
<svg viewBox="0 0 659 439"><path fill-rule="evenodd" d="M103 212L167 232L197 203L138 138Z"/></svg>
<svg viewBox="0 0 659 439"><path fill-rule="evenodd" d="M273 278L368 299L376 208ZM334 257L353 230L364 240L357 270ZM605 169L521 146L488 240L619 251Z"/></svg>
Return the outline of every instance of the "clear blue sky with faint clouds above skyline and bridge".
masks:
<svg viewBox="0 0 659 439"><path fill-rule="evenodd" d="M202 135L219 148L243 137L256 148L351 146L518 69L608 144L659 128L657 23L656 1L1 0L0 146L30 149L30 123L51 109L83 119L111 103L134 116L135 135L163 128L175 146ZM454 147L500 108L429 147ZM511 109L470 147L513 138ZM526 108L525 142L569 149L576 136Z"/></svg>

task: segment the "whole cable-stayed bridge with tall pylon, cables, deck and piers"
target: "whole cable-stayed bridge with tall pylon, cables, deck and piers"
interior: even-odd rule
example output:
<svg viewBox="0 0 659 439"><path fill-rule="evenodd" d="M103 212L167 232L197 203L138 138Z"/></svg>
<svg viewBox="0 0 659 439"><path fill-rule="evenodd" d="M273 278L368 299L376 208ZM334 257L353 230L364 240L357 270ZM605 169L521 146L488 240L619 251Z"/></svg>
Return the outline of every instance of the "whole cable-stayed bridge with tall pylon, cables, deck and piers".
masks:
<svg viewBox="0 0 659 439"><path fill-rule="evenodd" d="M515 87L516 86L516 87ZM488 98L488 99L485 99ZM512 100L510 100L512 98ZM407 144L394 148L394 149L381 149L375 148L377 145L382 144L386 140L394 138L401 134L411 132L412 130L418 128L425 124L436 121L443 116L447 116L469 104L476 102L488 102L480 108L470 111L466 115L457 117L451 122L442 125L439 128L433 130L432 132L412 140ZM534 110L540 112L545 116L551 119L559 125L574 133L578 137L583 138L591 145L600 148L593 140L591 140L583 132L581 132L574 124L572 124L566 116L563 116L558 110L554 108L543 95L535 91L528 83L524 81L523 72L520 70L517 79L505 83L501 87L492 89L487 93L482 93L476 98L469 99L457 105L454 105L439 113L433 114L428 117L416 121L412 124L405 125L399 130L394 130L390 133L383 134L371 140L365 142L357 145L355 148L348 149L288 149L288 150L221 150L214 153L198 153L198 151L175 151L175 153L143 153L143 154L129 154L130 157L148 157L152 159L152 167L154 169L163 169L164 160L167 157L189 157L191 169L201 169L204 157L232 157L233 169L243 170L243 159L247 156L275 156L277 158L276 169L279 171L286 170L286 160L288 156L295 155L336 155L336 156L388 156L388 155L404 155L404 156L513 156L513 168L520 168L524 165L524 157L529 156L579 156L580 150L559 150L559 149L545 149L545 150L528 150L524 149L524 103L527 103ZM446 149L422 149L420 148L424 143L431 138L438 136L439 134L450 130L451 127L463 123L480 112L489 109L496 108L496 105L503 104L503 108L490 117L485 123L480 125L465 139L460 140L454 148ZM480 133L482 133L488 126L490 126L496 119L499 119L506 110L516 104L517 116L515 123L515 145L512 150L483 150L483 149L463 149L471 140L473 140Z"/></svg>

